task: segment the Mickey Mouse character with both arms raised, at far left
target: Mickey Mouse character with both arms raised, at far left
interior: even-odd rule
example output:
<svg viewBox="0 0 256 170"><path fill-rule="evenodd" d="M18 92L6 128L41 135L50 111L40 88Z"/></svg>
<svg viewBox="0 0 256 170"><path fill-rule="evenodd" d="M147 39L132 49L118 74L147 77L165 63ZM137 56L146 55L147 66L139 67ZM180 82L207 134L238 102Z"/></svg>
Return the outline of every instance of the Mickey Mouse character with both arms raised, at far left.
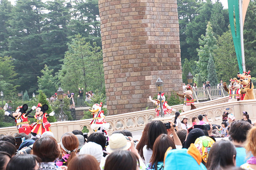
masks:
<svg viewBox="0 0 256 170"><path fill-rule="evenodd" d="M33 118L33 116L29 116L29 113L32 112L36 107L33 106L31 110L27 113L28 105L23 104L22 106L17 107L15 112L12 115L9 112L4 112L5 115L8 115L10 118L13 118L16 122L17 130L19 133L26 133L28 135L31 132L31 127L29 125L28 117Z"/></svg>

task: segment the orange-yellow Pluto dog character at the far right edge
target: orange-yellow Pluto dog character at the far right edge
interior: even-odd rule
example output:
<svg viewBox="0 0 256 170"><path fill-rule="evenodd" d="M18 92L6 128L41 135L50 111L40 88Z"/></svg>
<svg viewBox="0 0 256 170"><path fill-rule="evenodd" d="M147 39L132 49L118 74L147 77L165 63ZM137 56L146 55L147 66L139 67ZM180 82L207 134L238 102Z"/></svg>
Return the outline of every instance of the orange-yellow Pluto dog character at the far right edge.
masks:
<svg viewBox="0 0 256 170"><path fill-rule="evenodd" d="M237 74L237 77L240 78L240 84L242 89L246 92L244 95L244 100L250 100L254 99L254 94L253 94L253 82L251 80L251 75L250 70L248 72L243 72L243 74Z"/></svg>

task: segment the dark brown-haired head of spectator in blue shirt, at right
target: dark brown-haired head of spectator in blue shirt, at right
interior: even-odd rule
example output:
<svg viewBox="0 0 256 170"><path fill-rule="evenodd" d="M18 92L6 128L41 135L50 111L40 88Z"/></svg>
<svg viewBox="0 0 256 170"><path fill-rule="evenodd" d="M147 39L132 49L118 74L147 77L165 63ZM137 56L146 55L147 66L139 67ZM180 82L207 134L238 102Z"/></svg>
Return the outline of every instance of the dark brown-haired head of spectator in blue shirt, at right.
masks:
<svg viewBox="0 0 256 170"><path fill-rule="evenodd" d="M251 128L251 124L247 121L234 121L232 124L230 124L228 134L233 141L243 143L246 140L246 135Z"/></svg>

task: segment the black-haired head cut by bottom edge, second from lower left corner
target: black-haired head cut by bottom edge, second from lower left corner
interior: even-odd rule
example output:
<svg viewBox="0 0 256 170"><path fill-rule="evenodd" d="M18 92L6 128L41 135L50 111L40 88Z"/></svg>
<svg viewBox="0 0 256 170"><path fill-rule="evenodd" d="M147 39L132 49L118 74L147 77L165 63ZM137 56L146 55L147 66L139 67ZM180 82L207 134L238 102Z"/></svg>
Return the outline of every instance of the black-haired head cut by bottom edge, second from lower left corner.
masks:
<svg viewBox="0 0 256 170"><path fill-rule="evenodd" d="M38 170L39 158L31 154L13 156L6 166L6 170Z"/></svg>

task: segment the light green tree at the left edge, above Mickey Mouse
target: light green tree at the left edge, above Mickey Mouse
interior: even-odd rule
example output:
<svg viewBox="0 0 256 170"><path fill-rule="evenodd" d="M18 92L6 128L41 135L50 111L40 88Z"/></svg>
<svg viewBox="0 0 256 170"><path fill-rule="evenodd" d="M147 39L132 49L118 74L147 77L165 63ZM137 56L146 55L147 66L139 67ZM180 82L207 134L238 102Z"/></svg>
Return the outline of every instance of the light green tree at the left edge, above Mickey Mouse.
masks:
<svg viewBox="0 0 256 170"><path fill-rule="evenodd" d="M13 66L14 60L11 57L0 57L0 90L7 95L16 91L17 73Z"/></svg>

